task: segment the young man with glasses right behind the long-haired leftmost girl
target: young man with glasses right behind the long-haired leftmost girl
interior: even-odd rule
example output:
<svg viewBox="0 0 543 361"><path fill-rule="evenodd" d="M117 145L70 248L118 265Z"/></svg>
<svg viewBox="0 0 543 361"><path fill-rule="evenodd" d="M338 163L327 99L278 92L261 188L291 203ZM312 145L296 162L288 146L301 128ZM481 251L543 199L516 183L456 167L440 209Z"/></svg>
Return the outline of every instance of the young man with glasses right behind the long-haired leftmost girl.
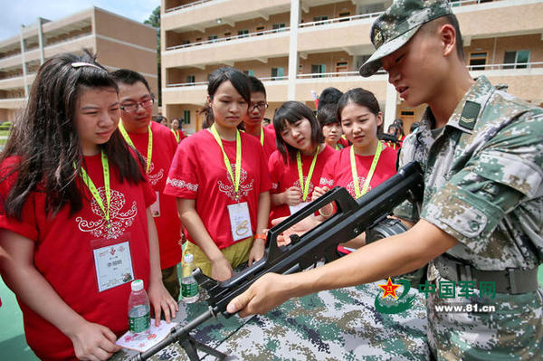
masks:
<svg viewBox="0 0 543 361"><path fill-rule="evenodd" d="M157 201L151 205L151 213L157 224L162 282L177 300L179 279L176 266L181 261L181 222L176 198L163 193L167 173L176 154L176 138L169 128L151 121L154 100L146 79L127 69L112 74L119 85L119 130L129 146L135 147L143 156L148 181L157 195Z"/></svg>

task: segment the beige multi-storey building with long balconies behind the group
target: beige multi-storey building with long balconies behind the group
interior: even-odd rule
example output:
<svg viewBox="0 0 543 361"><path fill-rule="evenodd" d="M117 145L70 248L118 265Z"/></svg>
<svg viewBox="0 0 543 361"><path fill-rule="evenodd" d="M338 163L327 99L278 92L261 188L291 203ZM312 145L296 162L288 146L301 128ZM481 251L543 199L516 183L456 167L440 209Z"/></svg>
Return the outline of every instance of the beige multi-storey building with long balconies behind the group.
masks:
<svg viewBox="0 0 543 361"><path fill-rule="evenodd" d="M206 82L229 65L260 78L268 92L266 117L286 100L314 108L320 93L362 87L376 94L386 125L421 119L387 84L386 73L370 78L358 67L374 52L369 30L392 0L162 0L162 113L180 118L188 133L202 128L198 110ZM543 102L543 1L452 1L467 64L475 78L536 104ZM291 71L295 69L295 71Z"/></svg>

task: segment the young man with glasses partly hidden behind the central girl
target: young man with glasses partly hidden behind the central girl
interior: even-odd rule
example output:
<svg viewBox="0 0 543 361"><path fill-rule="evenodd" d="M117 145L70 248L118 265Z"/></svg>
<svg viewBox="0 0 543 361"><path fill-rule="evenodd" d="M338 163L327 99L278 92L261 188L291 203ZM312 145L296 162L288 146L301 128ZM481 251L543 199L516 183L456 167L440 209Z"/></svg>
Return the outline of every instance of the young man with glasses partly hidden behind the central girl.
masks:
<svg viewBox="0 0 543 361"><path fill-rule="evenodd" d="M275 145L275 132L262 125L262 119L264 119L268 108L266 89L262 81L253 76L249 76L249 87L251 89L251 104L243 116L243 127L247 134L260 139L264 148L264 156L268 160L277 146Z"/></svg>

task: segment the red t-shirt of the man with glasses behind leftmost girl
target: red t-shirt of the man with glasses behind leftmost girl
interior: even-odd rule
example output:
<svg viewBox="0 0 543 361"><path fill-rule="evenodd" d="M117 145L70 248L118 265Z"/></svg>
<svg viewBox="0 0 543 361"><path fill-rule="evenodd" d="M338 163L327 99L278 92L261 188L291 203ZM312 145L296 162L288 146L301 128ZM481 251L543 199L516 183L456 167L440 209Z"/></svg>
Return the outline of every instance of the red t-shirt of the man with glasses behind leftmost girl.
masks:
<svg viewBox="0 0 543 361"><path fill-rule="evenodd" d="M167 173L176 155L177 141L169 128L156 121L151 121L150 125L153 132L153 154L148 179L153 190L158 192L160 216L153 219L157 225L160 268L164 270L181 261L181 246L179 245L181 221L177 215L176 197L164 194ZM128 133L138 152L147 161L148 133Z"/></svg>

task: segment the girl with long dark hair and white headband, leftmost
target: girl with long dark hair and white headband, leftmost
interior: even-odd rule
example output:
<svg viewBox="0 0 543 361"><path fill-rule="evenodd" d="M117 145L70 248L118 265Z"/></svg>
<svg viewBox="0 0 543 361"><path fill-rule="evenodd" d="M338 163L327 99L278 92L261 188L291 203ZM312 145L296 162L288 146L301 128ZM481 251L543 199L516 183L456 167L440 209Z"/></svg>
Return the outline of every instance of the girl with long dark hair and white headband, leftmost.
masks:
<svg viewBox="0 0 543 361"><path fill-rule="evenodd" d="M162 311L175 317L148 208L154 193L118 122L110 73L87 53L55 56L0 157L0 271L42 359L118 351L130 280L144 280L157 323Z"/></svg>

